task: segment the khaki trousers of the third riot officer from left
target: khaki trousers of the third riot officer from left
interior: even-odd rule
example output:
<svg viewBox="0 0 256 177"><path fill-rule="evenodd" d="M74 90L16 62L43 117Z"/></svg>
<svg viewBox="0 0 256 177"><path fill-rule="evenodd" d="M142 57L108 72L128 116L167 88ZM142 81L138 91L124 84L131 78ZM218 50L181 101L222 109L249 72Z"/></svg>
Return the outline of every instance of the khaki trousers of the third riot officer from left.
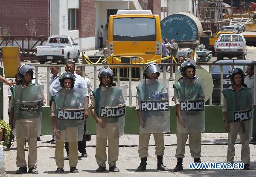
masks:
<svg viewBox="0 0 256 177"><path fill-rule="evenodd" d="M116 166L119 155L119 128L118 123L106 123L105 128L97 124L95 158L98 166L106 167L108 142L108 165Z"/></svg>

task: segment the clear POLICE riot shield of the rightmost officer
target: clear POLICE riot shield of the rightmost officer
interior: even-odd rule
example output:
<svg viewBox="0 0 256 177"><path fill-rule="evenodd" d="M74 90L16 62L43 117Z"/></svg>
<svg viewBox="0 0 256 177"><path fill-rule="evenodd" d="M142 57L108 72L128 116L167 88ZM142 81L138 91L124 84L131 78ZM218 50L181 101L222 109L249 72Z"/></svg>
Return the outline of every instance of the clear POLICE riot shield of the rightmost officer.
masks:
<svg viewBox="0 0 256 177"><path fill-rule="evenodd" d="M249 140L253 132L253 89L234 91L232 97L232 101L227 102L227 104L231 103L233 109L227 111L227 117L231 117L234 124L239 124L238 139Z"/></svg>

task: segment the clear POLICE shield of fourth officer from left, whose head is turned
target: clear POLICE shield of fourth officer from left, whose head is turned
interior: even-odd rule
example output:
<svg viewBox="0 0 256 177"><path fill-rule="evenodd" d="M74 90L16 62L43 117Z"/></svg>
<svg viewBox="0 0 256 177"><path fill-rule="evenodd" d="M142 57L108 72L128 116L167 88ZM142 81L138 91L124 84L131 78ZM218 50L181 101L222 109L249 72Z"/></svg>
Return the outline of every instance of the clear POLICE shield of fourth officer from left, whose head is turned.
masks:
<svg viewBox="0 0 256 177"><path fill-rule="evenodd" d="M136 88L140 108L140 133L170 132L169 81L140 80Z"/></svg>

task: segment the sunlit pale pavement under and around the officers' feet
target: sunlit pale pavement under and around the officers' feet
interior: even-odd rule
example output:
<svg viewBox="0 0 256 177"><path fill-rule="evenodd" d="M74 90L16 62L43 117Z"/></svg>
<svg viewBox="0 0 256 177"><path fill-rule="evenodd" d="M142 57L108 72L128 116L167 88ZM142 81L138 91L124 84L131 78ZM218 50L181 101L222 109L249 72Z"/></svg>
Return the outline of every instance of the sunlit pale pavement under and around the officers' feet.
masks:
<svg viewBox="0 0 256 177"><path fill-rule="evenodd" d="M186 146L185 157L183 158L183 168L181 172L172 172L176 165L176 134L166 134L165 135L165 155L163 162L170 169L169 172L157 171L157 158L154 155L154 138L151 136L148 151L148 165L147 171L145 172L135 172L135 169L139 166L140 158L138 157L138 135L124 135L120 138L119 147L119 160L117 161L117 167L120 169L119 173L110 173L108 170L103 173L95 173L97 166L95 160L95 145L96 136L93 135L92 140L87 142L86 151L88 154L87 158L79 157L79 162L77 168L79 169L79 174L69 174L68 161L65 160L64 170L65 174L53 174L56 170L54 151L54 144L45 143L46 140L51 139L51 136L41 136L42 141L38 142L38 171L39 174L23 174L20 177L30 176L30 177L58 177L58 176L90 176L90 177L117 177L117 176L128 176L128 177L230 177L230 176L255 176L256 170L244 171L244 170L208 170L208 171L198 171L189 169L189 163L193 162L190 156L189 146ZM227 134L202 134L202 160L207 163L218 163L225 162L227 154ZM16 167L16 142L14 143L14 148L4 151L5 163L6 163L6 176L15 176ZM65 150L64 150L65 151ZM26 159L28 152L25 152ZM256 145L250 145L250 164L256 169ZM81 154L79 154L81 155ZM236 156L235 161L240 162L241 158L241 144L236 145ZM107 166L108 167L108 166Z"/></svg>

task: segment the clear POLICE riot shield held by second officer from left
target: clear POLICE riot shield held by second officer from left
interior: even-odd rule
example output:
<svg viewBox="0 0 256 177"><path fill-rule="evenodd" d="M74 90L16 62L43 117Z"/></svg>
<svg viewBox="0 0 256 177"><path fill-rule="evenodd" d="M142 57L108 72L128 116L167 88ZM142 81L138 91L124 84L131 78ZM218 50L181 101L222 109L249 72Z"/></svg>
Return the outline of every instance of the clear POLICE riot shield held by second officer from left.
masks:
<svg viewBox="0 0 256 177"><path fill-rule="evenodd" d="M60 88L56 99L55 122L60 141L81 141L84 135L86 88Z"/></svg>

